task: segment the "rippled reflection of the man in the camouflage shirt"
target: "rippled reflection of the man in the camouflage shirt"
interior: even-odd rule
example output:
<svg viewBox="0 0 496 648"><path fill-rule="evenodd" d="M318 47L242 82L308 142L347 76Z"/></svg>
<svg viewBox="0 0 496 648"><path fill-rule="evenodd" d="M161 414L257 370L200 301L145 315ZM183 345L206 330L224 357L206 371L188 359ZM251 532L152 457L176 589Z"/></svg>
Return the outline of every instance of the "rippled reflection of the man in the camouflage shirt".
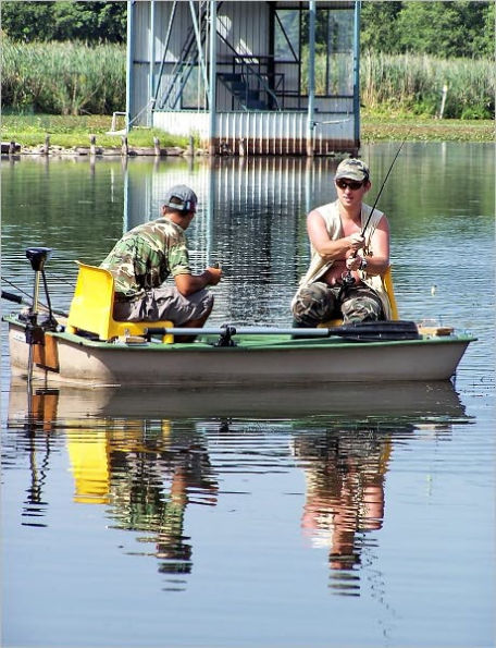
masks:
<svg viewBox="0 0 496 648"><path fill-rule="evenodd" d="M215 504L218 485L195 424L147 421L146 433L129 444L122 430L111 440L112 515L119 528L147 531L137 538L152 542L159 571L191 571L191 545L184 534L189 503ZM193 496L191 493L195 493Z"/></svg>

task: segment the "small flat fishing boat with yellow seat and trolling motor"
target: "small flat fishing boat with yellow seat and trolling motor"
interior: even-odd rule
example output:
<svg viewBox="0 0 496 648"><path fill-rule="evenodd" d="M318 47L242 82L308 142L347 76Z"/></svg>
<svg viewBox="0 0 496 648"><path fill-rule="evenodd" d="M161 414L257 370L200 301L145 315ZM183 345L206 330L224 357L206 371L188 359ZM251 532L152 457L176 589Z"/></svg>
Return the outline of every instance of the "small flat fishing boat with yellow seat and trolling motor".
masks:
<svg viewBox="0 0 496 648"><path fill-rule="evenodd" d="M67 317L39 317L39 276L49 248L29 248L33 305L5 316L13 376L99 386L290 386L448 380L474 338L412 321L327 326L176 328L115 321L110 272L79 264ZM4 293L2 292L4 296ZM389 298L394 298L389 292ZM18 299L20 301L20 299ZM55 313L57 315L57 313ZM193 335L190 343L176 335Z"/></svg>

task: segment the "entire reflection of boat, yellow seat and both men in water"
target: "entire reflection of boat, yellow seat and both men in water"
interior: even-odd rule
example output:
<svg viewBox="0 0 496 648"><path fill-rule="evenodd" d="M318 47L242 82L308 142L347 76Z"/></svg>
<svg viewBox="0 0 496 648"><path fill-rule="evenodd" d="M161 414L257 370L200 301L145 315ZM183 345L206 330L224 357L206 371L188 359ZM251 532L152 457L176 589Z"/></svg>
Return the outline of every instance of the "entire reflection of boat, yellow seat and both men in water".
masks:
<svg viewBox="0 0 496 648"><path fill-rule="evenodd" d="M21 383L11 386L8 428L16 450L21 445L32 459L25 523L40 524L50 452L66 451L74 503L103 504L111 528L135 531L139 550L131 553L154 555L168 589L184 589L193 566L187 508L214 506L219 482L228 478L220 447L227 444L231 455L230 444L238 444L238 469L251 462L259 470L285 452L288 469L296 460L306 476L303 535L312 547L325 548L331 587L358 596L363 555L384 522L384 480L395 443L425 427L445 436L452 423L468 420L451 383L246 389L223 391L222 398L213 390L63 388L26 394Z"/></svg>

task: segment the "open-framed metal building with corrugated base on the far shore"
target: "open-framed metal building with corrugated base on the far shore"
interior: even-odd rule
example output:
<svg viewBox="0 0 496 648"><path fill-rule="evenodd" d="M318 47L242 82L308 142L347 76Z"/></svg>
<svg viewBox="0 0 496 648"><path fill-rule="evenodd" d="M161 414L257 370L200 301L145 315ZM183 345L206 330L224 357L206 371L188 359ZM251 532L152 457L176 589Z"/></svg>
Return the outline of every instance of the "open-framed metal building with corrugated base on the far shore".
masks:
<svg viewBox="0 0 496 648"><path fill-rule="evenodd" d="M210 155L356 155L359 15L360 0L133 0L126 127Z"/></svg>

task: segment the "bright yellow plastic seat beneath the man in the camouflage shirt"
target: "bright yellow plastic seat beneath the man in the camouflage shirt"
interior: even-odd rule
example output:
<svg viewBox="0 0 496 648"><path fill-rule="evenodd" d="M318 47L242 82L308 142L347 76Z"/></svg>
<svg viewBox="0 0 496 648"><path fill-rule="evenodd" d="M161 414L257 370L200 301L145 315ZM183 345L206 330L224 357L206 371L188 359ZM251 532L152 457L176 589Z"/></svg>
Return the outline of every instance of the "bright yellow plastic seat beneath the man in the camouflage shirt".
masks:
<svg viewBox="0 0 496 648"><path fill-rule="evenodd" d="M150 328L171 328L170 320L161 321L117 321L113 318L114 279L109 270L87 266L76 261L79 266L76 288L74 290L69 311L66 331L76 333L86 331L95 333L99 340L112 340L120 337L146 335ZM172 343L174 337L166 334L162 342Z"/></svg>

